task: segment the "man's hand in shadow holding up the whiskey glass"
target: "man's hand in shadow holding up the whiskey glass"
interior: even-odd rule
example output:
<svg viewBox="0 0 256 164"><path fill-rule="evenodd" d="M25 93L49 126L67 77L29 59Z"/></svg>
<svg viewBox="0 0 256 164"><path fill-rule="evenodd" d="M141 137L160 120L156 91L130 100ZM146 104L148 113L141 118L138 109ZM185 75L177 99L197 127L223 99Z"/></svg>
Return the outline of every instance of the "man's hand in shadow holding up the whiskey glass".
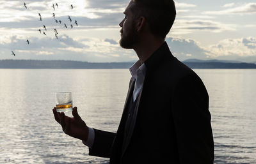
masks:
<svg viewBox="0 0 256 164"><path fill-rule="evenodd" d="M52 109L55 120L61 124L65 134L86 141L88 139L88 126L77 113L77 107L72 110L74 117L65 116L64 112L57 112L56 108Z"/></svg>

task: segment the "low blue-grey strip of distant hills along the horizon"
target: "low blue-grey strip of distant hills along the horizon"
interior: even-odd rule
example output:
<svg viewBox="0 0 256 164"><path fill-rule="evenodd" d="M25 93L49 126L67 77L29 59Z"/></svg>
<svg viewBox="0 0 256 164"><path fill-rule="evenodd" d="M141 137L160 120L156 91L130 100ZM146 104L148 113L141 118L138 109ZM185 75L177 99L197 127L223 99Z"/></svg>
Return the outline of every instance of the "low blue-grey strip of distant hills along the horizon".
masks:
<svg viewBox="0 0 256 164"><path fill-rule="evenodd" d="M197 69L256 69L254 63L239 63L237 61L189 59L183 61L183 63L190 68ZM81 61L0 60L0 68L20 69L126 69L132 64L132 62L89 63Z"/></svg>

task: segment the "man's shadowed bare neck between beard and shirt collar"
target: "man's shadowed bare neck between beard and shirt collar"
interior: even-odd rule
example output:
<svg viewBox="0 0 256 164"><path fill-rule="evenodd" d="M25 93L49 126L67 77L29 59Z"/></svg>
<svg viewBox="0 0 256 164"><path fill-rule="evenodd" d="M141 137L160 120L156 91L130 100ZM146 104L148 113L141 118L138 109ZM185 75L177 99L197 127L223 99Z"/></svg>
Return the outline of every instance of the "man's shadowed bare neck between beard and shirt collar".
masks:
<svg viewBox="0 0 256 164"><path fill-rule="evenodd" d="M143 64L163 43L164 39L147 37L141 40L133 49L139 57L140 63Z"/></svg>

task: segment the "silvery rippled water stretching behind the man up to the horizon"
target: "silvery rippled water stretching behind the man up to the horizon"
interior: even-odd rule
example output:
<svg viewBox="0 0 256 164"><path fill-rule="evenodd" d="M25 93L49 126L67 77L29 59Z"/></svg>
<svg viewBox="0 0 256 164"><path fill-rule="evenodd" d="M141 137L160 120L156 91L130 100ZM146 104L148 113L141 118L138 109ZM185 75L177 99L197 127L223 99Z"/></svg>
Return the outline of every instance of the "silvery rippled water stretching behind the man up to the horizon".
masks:
<svg viewBox="0 0 256 164"><path fill-rule="evenodd" d="M256 163L256 70L195 71L210 96L215 163ZM88 126L116 131L128 70L0 70L0 77L0 163L108 163L61 131L54 93L72 91Z"/></svg>

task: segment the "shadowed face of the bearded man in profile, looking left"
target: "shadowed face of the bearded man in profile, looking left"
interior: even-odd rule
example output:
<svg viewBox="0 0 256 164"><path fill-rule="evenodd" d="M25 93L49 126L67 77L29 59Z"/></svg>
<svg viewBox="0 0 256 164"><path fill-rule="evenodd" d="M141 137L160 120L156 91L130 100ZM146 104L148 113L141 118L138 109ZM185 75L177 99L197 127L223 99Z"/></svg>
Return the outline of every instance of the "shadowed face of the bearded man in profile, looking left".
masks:
<svg viewBox="0 0 256 164"><path fill-rule="evenodd" d="M133 1L130 1L124 11L125 18L119 24L119 26L122 27L120 30L121 39L119 43L123 48L133 48L134 44L138 42L138 34L135 29L134 17L131 11L131 6L134 5L133 3Z"/></svg>

